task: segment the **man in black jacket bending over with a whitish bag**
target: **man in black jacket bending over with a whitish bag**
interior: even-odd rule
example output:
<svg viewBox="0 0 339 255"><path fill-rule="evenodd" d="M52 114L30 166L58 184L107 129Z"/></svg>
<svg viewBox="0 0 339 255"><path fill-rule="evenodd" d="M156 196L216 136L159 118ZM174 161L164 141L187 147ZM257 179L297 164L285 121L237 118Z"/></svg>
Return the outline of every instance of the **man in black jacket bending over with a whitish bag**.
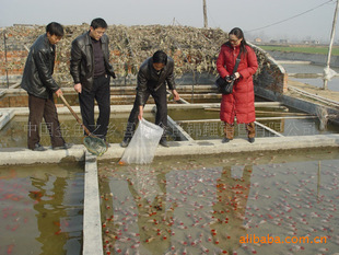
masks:
<svg viewBox="0 0 339 255"><path fill-rule="evenodd" d="M164 134L160 140L160 144L168 147L166 140L167 128L167 97L166 84L172 91L174 100L178 101L179 94L175 89L174 82L174 61L171 57L157 50L153 57L148 58L141 66L138 72L137 96L133 108L129 115L127 129L121 147L127 147L133 136L138 121L142 118L143 107L150 95L153 96L156 105L155 124L164 129Z"/></svg>

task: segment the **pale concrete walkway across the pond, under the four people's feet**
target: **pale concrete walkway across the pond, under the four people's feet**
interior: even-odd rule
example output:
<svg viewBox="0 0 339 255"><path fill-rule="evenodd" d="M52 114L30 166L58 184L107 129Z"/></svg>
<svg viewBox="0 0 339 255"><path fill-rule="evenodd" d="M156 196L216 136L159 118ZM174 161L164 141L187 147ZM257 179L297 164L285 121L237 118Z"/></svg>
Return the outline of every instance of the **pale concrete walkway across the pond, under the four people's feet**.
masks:
<svg viewBox="0 0 339 255"><path fill-rule="evenodd" d="M159 146L155 157L197 155L217 153L236 153L253 151L279 151L305 148L339 147L339 135L293 136L293 137L264 137L256 138L249 143L244 138L236 138L229 143L217 140L170 141L170 148ZM97 158L116 160L122 157L124 148L118 143L110 143L107 152ZM69 150L51 149L37 152L25 148L0 149L0 165L59 163L65 161L84 161L86 149L82 144L73 146Z"/></svg>

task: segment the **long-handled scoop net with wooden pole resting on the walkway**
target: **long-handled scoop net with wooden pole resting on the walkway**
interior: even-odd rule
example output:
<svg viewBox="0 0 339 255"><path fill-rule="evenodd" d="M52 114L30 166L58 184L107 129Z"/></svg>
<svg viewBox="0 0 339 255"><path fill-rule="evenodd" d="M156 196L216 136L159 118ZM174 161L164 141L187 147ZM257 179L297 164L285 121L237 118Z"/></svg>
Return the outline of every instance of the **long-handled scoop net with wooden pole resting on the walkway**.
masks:
<svg viewBox="0 0 339 255"><path fill-rule="evenodd" d="M85 136L83 138L83 144L85 146L85 148L95 155L102 155L104 154L107 149L108 149L108 144L101 138L92 135L90 132L90 130L83 125L83 123L81 121L81 119L78 117L78 115L75 114L75 112L72 109L72 107L68 104L68 102L66 101L66 98L63 97L63 95L60 95L60 98L62 100L62 102L65 103L65 105L68 107L68 109L71 112L71 114L74 116L74 118L77 119L77 121L81 125L81 127L83 128L83 130L85 131L85 134L87 136Z"/></svg>

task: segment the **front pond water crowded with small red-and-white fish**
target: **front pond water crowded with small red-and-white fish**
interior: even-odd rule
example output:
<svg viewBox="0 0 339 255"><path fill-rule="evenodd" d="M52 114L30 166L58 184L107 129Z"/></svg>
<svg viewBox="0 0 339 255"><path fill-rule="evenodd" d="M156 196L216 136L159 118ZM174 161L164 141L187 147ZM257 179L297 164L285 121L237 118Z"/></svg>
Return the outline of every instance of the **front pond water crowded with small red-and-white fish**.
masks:
<svg viewBox="0 0 339 255"><path fill-rule="evenodd" d="M98 174L105 254L338 252L338 149L102 162Z"/></svg>

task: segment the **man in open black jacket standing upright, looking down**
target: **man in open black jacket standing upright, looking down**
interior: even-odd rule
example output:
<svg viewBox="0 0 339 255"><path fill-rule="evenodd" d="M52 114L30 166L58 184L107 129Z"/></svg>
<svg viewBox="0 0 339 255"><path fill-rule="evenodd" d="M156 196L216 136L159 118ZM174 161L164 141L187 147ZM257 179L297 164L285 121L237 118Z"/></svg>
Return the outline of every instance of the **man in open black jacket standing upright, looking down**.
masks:
<svg viewBox="0 0 339 255"><path fill-rule="evenodd" d="M110 114L109 80L115 78L109 63L107 23L94 19L90 31L72 42L70 72L74 80L74 90L79 93L79 103L84 126L106 141ZM100 115L94 124L94 100Z"/></svg>

